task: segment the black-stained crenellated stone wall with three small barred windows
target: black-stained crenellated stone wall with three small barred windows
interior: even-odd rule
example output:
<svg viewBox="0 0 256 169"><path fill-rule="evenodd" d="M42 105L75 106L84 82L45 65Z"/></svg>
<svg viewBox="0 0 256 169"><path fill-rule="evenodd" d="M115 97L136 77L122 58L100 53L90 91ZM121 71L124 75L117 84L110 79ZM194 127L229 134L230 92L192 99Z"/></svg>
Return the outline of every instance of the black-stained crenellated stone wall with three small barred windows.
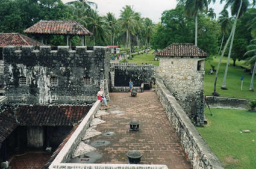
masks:
<svg viewBox="0 0 256 169"><path fill-rule="evenodd" d="M76 46L70 51L68 46L58 46L52 51L51 46L14 46L3 49L5 96L14 103L92 103L105 79L109 83L110 50L105 47L87 51L86 46ZM27 84L20 86L19 78L27 79ZM58 84L51 84L50 79L57 77ZM84 84L84 77L90 84Z"/></svg>

